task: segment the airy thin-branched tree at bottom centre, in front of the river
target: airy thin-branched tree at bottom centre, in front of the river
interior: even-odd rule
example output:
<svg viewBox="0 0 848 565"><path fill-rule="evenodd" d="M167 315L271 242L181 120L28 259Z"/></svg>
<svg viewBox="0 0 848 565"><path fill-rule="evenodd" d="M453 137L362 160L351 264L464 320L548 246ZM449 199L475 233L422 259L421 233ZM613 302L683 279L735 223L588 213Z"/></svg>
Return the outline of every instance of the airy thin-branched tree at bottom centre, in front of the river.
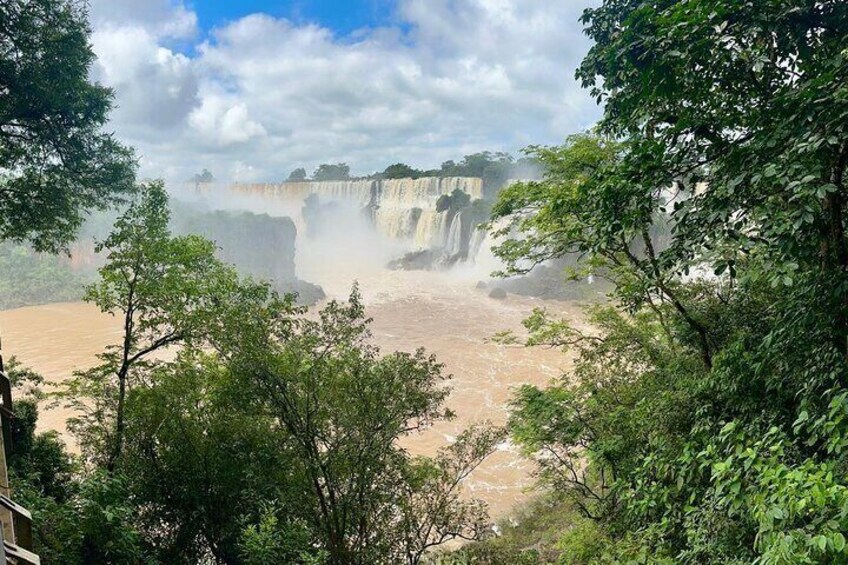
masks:
<svg viewBox="0 0 848 565"><path fill-rule="evenodd" d="M502 436L472 431L437 460L411 460L397 440L451 416L445 377L423 351L380 356L368 324L354 290L318 319L270 333L242 324L219 348L291 446L304 519L328 562L418 563L429 547L482 533L483 507L458 490Z"/></svg>

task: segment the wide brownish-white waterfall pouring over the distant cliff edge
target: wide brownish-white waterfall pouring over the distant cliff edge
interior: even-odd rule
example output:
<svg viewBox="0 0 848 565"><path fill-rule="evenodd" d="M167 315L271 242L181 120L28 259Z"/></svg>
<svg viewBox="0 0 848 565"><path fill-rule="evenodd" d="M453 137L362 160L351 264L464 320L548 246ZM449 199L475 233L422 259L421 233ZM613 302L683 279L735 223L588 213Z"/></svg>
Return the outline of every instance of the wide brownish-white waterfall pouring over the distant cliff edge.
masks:
<svg viewBox="0 0 848 565"><path fill-rule="evenodd" d="M352 180L327 182L286 182L280 184L235 184L231 190L287 204L341 206L369 218L379 234L405 243L410 251L440 250L449 257L464 259L473 236L469 203L483 197L483 181L470 177L393 180ZM460 209L451 198L467 195ZM320 210L320 208L318 208ZM306 209L295 218L301 233L309 233ZM454 259L456 260L456 259Z"/></svg>

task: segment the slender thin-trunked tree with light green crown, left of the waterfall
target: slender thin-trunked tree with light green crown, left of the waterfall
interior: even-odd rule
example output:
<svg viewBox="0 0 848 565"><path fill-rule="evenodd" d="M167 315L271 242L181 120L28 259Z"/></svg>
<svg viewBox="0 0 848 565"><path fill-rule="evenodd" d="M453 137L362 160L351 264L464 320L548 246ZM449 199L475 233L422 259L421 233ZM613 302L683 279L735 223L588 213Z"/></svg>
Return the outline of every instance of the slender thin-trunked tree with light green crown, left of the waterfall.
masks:
<svg viewBox="0 0 848 565"><path fill-rule="evenodd" d="M215 308L237 281L234 270L215 258L210 241L172 237L168 220L164 187L145 185L96 247L107 252L106 264L99 270L101 280L87 288L86 300L121 317L122 343L100 355L101 365L78 374L65 396L88 414L76 428L86 436L84 443L101 444L94 452L108 453L109 470L123 449L124 403L138 371L156 352L202 339ZM92 398L93 405L86 400Z"/></svg>

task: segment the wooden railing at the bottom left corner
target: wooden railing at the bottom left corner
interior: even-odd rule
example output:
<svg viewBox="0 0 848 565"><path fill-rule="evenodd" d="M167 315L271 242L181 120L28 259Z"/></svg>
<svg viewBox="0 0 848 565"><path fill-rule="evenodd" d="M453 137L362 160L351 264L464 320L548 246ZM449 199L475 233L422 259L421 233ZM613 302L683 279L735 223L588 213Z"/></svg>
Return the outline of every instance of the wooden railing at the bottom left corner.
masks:
<svg viewBox="0 0 848 565"><path fill-rule="evenodd" d="M6 458L12 452L12 383L3 367L0 353L0 565L7 563L41 565L38 555L32 552L32 515L11 498L9 467Z"/></svg>

